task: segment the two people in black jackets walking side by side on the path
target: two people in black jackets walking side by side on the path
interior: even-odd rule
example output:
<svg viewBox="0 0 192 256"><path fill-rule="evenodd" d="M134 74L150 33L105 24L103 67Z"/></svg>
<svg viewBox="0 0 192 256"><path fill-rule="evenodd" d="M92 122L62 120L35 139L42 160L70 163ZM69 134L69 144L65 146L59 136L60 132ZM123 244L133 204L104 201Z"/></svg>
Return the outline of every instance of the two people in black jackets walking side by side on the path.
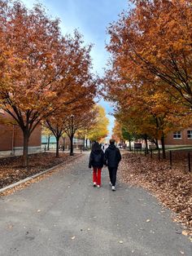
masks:
<svg viewBox="0 0 192 256"><path fill-rule="evenodd" d="M89 168L93 167L94 187L98 186L98 188L100 188L102 168L103 166L107 166L111 189L112 191L116 191L116 173L120 160L120 150L116 148L114 139L110 139L110 145L105 150L105 153L98 142L93 144L89 156Z"/></svg>

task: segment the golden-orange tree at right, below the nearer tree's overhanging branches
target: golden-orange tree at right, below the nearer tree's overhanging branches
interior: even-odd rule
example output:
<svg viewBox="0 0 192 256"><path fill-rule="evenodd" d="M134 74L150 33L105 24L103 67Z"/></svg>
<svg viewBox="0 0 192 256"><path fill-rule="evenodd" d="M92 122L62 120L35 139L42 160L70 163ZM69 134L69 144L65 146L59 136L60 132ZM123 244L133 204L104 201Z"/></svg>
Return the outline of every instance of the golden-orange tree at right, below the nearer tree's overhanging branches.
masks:
<svg viewBox="0 0 192 256"><path fill-rule="evenodd" d="M148 78L147 81L140 81L139 77L127 83L116 68L113 69L113 76L107 73L105 90L107 99L116 102L115 116L120 124L130 134L145 139L146 149L147 139L156 142L161 139L165 157L164 137L172 127L181 127L178 123L176 125L175 115L181 111L181 106L161 86L157 86L159 80Z"/></svg>

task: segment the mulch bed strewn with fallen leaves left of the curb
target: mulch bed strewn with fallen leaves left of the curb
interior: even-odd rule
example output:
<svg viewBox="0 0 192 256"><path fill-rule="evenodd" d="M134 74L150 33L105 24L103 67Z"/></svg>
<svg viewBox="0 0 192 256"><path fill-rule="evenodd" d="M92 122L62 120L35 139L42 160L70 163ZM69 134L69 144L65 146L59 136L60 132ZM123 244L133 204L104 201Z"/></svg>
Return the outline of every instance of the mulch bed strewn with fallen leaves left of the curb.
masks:
<svg viewBox="0 0 192 256"><path fill-rule="evenodd" d="M0 188L7 187L33 174L41 173L41 171L64 163L77 155L76 153L74 156L70 156L69 153L63 152L59 153L59 157L55 157L53 152L31 154L28 156L28 167L23 166L22 157L0 158Z"/></svg>

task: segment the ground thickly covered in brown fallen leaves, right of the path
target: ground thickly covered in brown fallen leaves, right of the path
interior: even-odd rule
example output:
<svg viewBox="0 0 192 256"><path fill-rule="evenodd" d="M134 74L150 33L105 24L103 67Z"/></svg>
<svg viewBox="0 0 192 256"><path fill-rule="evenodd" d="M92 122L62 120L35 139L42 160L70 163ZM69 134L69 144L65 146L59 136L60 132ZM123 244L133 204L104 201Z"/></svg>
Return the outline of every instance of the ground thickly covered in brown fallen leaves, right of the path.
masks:
<svg viewBox="0 0 192 256"><path fill-rule="evenodd" d="M170 169L167 161L128 153L120 163L121 182L150 190L172 210L174 221L184 225L184 235L192 237L192 174L182 168ZM190 237L190 240L192 238Z"/></svg>

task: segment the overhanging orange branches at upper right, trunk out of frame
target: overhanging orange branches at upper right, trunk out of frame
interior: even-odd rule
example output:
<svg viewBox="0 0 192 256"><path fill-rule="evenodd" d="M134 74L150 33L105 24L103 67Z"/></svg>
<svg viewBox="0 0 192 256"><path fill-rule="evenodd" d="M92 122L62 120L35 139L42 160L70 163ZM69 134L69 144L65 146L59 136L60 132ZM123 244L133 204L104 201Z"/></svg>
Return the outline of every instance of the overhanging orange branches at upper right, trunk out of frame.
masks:
<svg viewBox="0 0 192 256"><path fill-rule="evenodd" d="M107 50L125 80L154 76L182 113L192 108L192 6L190 0L136 0L111 24Z"/></svg>

